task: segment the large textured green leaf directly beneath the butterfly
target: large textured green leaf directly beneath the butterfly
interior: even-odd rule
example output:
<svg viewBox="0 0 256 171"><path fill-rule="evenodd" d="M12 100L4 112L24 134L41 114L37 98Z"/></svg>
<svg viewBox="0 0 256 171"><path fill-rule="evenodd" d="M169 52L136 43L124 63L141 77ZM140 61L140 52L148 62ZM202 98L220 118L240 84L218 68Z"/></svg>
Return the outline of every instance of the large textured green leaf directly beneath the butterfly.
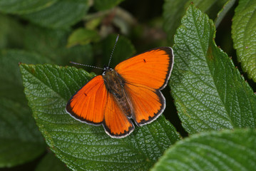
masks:
<svg viewBox="0 0 256 171"><path fill-rule="evenodd" d="M71 95L94 75L73 67L22 64L20 68L39 130L72 170L148 170L180 140L163 115L126 138L111 138L102 126L81 123L65 110Z"/></svg>

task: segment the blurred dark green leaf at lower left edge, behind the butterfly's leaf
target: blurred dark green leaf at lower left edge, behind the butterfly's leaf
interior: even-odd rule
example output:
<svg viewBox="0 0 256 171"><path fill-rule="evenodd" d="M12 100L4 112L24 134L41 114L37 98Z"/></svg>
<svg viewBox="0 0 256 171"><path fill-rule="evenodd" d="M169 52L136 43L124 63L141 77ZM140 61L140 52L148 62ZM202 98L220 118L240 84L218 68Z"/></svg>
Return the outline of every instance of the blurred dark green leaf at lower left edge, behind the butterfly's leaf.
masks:
<svg viewBox="0 0 256 171"><path fill-rule="evenodd" d="M0 167L12 167L39 157L46 149L26 105L0 98Z"/></svg>

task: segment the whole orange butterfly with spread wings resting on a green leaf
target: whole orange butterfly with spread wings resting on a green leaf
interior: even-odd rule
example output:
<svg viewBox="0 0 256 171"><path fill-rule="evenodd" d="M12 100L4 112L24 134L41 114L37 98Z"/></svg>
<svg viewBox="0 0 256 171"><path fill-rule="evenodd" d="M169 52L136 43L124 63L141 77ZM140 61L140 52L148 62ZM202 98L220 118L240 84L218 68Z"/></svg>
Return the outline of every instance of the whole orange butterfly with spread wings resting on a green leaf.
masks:
<svg viewBox="0 0 256 171"><path fill-rule="evenodd" d="M66 111L76 120L103 125L111 138L124 138L138 126L151 123L163 113L160 92L173 68L173 49L153 48L115 69L105 67L102 76L86 83L68 100Z"/></svg>

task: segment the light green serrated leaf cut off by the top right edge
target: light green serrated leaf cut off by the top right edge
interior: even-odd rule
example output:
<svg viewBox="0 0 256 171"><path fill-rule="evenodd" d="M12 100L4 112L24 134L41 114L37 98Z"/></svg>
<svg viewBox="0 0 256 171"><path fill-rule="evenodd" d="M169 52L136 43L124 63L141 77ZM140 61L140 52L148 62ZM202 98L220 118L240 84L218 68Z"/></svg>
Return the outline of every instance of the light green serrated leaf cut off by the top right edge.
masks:
<svg viewBox="0 0 256 171"><path fill-rule="evenodd" d="M256 1L241 0L235 9L232 38L242 70L256 82Z"/></svg>

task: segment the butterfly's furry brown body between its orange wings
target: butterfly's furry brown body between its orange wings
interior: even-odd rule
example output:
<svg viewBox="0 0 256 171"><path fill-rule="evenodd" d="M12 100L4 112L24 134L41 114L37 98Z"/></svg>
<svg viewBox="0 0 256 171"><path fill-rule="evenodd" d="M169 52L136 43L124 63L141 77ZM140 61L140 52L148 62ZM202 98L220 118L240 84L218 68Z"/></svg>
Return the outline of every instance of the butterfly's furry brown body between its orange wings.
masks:
<svg viewBox="0 0 256 171"><path fill-rule="evenodd" d="M123 112L130 117L131 104L124 89L126 81L111 68L106 68L106 71L103 72L103 80L108 92L113 95Z"/></svg>

